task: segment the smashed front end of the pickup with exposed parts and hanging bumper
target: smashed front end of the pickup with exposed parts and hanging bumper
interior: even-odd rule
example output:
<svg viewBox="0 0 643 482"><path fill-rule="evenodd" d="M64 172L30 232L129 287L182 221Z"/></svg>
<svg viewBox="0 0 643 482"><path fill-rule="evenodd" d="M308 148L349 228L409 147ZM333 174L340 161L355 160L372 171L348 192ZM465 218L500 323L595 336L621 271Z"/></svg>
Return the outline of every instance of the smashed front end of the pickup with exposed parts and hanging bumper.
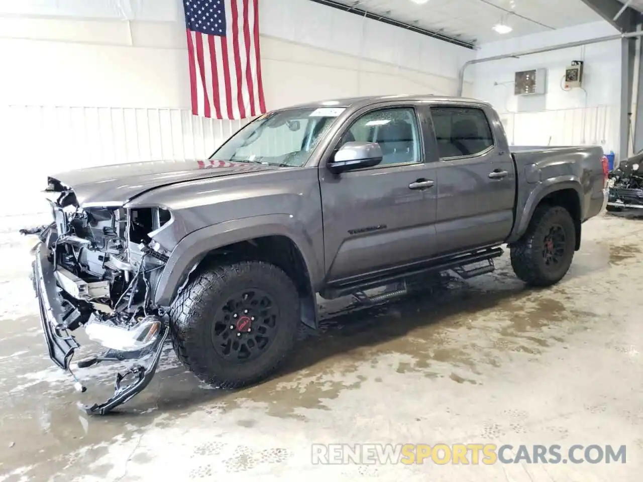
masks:
<svg viewBox="0 0 643 482"><path fill-rule="evenodd" d="M71 373L79 391L86 388L70 362L80 345L69 332L80 327L107 352L78 362L78 368L150 359L118 373L107 402L84 407L89 414L104 414L139 393L156 371L168 320L163 308L152 303L152 287L169 253L150 233L170 222L171 215L161 208L80 208L75 193L51 178L46 193L54 221L21 232L41 240L33 285L51 358ZM134 381L122 386L129 375Z"/></svg>

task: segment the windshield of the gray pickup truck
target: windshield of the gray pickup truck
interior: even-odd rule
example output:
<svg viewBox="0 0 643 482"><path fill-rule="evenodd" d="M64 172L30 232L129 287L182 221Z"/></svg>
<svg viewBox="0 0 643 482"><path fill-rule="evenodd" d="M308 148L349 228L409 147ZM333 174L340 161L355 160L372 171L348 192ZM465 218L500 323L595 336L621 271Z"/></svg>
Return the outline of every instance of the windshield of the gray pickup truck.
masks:
<svg viewBox="0 0 643 482"><path fill-rule="evenodd" d="M261 116L239 130L210 159L303 166L321 137L344 110L345 107L311 107Z"/></svg>

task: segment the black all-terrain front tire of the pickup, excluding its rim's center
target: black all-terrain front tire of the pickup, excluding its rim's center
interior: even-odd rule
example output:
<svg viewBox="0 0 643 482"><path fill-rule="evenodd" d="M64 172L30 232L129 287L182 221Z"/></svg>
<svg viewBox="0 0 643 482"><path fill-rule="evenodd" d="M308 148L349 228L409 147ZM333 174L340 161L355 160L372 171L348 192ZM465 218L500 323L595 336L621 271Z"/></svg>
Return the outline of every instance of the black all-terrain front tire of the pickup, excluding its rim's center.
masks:
<svg viewBox="0 0 643 482"><path fill-rule="evenodd" d="M230 361L215 350L215 316L226 299L248 289L266 292L276 304L273 338L257 358ZM240 388L266 379L284 364L294 351L300 320L298 292L284 271L266 262L240 261L201 269L172 303L170 333L177 357L199 379Z"/></svg>

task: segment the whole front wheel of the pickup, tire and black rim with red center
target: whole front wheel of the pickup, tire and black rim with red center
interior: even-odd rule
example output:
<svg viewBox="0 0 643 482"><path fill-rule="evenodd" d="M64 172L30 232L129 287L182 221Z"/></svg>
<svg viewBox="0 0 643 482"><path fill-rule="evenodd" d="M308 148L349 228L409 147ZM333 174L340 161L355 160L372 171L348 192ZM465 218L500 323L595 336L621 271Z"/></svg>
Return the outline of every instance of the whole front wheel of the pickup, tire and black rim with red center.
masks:
<svg viewBox="0 0 643 482"><path fill-rule="evenodd" d="M275 265L206 267L172 303L174 351L203 382L221 388L253 384L293 352L299 306L293 281Z"/></svg>

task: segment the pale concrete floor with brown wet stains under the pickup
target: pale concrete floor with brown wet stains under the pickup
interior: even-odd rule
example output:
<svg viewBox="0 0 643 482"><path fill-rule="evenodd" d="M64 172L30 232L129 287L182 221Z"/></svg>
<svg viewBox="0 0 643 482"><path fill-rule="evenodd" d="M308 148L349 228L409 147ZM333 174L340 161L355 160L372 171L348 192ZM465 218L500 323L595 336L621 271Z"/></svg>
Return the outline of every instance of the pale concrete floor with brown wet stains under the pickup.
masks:
<svg viewBox="0 0 643 482"><path fill-rule="evenodd" d="M284 373L239 393L199 384L168 352L122 413L87 418L77 401L103 401L113 372L86 370L79 396L51 365L27 279L33 240L5 231L0 481L640 481L642 235L643 220L590 220L552 289L525 289L505 254L439 296L326 307ZM311 464L311 443L359 442L611 443L627 463Z"/></svg>

